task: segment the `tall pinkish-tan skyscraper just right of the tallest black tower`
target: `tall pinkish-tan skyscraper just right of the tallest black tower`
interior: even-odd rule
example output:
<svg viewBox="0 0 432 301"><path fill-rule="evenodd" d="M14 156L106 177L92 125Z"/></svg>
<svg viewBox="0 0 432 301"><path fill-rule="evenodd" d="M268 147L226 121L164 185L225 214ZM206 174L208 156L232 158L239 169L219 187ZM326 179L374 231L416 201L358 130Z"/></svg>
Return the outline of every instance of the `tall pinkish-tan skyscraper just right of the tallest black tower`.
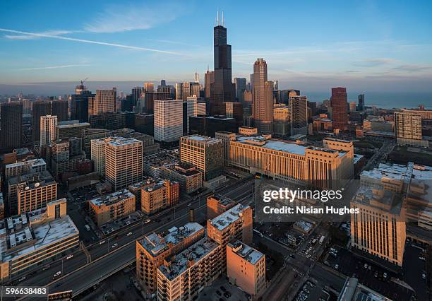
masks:
<svg viewBox="0 0 432 301"><path fill-rule="evenodd" d="M273 83L267 81L267 62L253 64L253 119L260 133L271 133L273 121Z"/></svg>

